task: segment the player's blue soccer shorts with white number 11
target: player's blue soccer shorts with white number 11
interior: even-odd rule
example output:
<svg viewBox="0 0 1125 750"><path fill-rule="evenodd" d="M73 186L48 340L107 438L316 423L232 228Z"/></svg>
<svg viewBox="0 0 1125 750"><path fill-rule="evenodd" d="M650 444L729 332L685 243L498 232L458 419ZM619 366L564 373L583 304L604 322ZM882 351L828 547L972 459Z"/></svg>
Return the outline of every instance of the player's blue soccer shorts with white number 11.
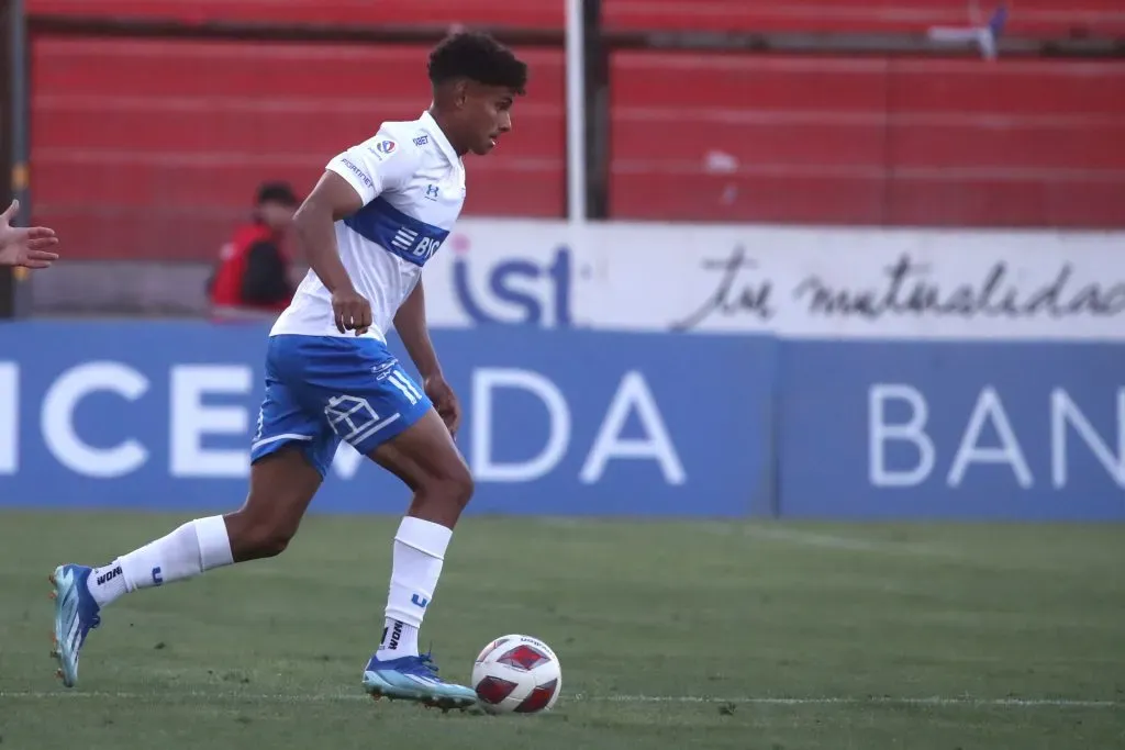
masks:
<svg viewBox="0 0 1125 750"><path fill-rule="evenodd" d="M363 455L416 423L431 401L376 338L270 336L251 463L298 443L324 477L340 441Z"/></svg>

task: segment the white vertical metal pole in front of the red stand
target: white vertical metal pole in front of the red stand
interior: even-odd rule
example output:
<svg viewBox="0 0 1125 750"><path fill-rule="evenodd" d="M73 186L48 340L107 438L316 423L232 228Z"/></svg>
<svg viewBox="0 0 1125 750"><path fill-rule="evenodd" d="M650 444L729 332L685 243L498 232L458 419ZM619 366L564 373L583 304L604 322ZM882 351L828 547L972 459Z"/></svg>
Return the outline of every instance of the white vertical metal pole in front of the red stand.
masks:
<svg viewBox="0 0 1125 750"><path fill-rule="evenodd" d="M586 55L583 0L566 0L567 216L586 222Z"/></svg>

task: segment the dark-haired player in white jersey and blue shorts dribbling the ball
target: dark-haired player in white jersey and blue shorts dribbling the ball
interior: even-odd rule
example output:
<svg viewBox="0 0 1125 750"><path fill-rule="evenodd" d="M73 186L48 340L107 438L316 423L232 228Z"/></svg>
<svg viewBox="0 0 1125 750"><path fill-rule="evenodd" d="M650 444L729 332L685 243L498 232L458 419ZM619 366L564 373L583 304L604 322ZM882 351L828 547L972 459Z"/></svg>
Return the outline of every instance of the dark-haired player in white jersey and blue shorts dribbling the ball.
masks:
<svg viewBox="0 0 1125 750"><path fill-rule="evenodd" d="M461 156L489 153L511 129L528 71L493 38L459 33L432 51L429 74L430 109L384 123L333 157L294 217L310 270L270 334L242 508L191 521L107 566L63 564L51 576L64 685L74 685L87 635L118 597L285 550L346 441L414 493L395 534L382 639L363 669L364 689L442 708L476 702L471 688L439 679L417 649L472 494L452 439L461 410L426 331L421 273L461 210ZM387 350L392 324L421 388Z"/></svg>

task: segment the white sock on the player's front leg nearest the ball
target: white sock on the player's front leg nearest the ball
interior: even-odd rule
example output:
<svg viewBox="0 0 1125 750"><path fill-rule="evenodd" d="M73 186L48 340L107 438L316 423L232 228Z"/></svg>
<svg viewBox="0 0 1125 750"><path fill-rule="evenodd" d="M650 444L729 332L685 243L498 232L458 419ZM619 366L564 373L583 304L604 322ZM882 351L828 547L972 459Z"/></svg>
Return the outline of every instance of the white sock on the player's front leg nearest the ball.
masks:
<svg viewBox="0 0 1125 750"><path fill-rule="evenodd" d="M446 549L453 530L413 516L403 518L395 534L387 596L386 625L377 659L418 654L418 629L438 588Z"/></svg>

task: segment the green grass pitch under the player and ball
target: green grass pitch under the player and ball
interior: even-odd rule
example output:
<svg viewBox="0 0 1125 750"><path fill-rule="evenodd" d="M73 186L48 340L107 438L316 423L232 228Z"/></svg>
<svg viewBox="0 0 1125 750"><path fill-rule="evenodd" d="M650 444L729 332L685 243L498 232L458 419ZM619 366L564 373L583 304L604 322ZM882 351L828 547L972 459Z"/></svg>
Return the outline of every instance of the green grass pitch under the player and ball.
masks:
<svg viewBox="0 0 1125 750"><path fill-rule="evenodd" d="M422 631L447 678L550 643L538 716L374 703L397 519L123 598L54 677L47 573L183 519L0 513L2 750L1125 748L1125 526L470 517Z"/></svg>

